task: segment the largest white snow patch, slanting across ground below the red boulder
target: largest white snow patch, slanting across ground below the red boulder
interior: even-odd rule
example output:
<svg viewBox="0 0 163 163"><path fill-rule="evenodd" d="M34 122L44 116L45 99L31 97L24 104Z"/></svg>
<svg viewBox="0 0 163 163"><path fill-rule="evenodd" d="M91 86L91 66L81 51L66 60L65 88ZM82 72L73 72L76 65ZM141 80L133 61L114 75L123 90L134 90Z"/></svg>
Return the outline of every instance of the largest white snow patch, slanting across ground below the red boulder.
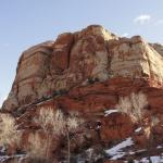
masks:
<svg viewBox="0 0 163 163"><path fill-rule="evenodd" d="M127 138L126 140L122 141L121 143L114 146L113 148L106 150L105 152L112 156L110 160L116 160L126 154L126 152L123 152L122 150L126 147L130 147L134 145L134 141L131 138Z"/></svg>

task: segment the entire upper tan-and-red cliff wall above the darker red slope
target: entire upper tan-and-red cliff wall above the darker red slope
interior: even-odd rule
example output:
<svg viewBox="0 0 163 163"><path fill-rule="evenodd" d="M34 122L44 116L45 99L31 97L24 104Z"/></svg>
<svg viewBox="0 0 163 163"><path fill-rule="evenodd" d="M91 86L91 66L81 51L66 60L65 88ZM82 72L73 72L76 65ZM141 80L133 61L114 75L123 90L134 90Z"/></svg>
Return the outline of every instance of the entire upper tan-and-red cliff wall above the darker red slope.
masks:
<svg viewBox="0 0 163 163"><path fill-rule="evenodd" d="M2 108L16 110L54 91L71 90L95 80L139 78L162 87L161 54L158 46L150 46L139 36L121 38L99 25L59 35L55 41L23 52Z"/></svg>

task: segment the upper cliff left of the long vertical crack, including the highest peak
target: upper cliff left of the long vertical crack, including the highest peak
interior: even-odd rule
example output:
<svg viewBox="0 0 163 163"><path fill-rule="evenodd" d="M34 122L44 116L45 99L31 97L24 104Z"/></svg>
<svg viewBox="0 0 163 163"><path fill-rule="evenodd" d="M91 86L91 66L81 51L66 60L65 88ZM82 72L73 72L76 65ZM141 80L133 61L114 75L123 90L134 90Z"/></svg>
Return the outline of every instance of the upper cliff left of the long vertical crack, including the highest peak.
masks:
<svg viewBox="0 0 163 163"><path fill-rule="evenodd" d="M101 26L89 26L26 50L3 108L14 110L54 90L82 85L88 77L105 79L109 62L105 43L114 38Z"/></svg>

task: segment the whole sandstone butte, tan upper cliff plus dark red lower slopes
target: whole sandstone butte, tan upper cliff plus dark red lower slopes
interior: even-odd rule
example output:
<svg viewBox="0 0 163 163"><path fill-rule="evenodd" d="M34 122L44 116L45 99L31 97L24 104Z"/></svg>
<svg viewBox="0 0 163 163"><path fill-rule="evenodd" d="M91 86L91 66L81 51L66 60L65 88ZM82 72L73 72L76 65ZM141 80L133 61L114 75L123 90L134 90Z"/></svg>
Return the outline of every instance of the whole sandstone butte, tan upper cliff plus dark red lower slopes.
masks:
<svg viewBox="0 0 163 163"><path fill-rule="evenodd" d="M163 47L140 36L122 38L91 25L24 51L2 110L18 117L20 128L32 130L38 127L30 121L38 108L52 105L66 113L78 112L92 125L90 128L100 122L100 133L85 130L92 145L99 139L108 145L133 135L138 124L121 113L109 118L104 111L114 109L121 97L140 91L148 100L146 117L160 120L154 137L162 142ZM133 137L143 146L141 136Z"/></svg>

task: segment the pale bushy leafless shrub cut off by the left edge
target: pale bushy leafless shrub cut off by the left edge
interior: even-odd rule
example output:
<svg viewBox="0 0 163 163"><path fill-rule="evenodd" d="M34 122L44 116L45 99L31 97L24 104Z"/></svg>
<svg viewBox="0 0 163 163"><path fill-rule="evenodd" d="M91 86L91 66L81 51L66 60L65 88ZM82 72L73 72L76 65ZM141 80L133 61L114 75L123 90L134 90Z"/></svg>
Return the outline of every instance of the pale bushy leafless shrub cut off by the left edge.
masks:
<svg viewBox="0 0 163 163"><path fill-rule="evenodd" d="M4 147L18 145L21 131L17 130L15 118L10 114L0 114L0 145Z"/></svg>

